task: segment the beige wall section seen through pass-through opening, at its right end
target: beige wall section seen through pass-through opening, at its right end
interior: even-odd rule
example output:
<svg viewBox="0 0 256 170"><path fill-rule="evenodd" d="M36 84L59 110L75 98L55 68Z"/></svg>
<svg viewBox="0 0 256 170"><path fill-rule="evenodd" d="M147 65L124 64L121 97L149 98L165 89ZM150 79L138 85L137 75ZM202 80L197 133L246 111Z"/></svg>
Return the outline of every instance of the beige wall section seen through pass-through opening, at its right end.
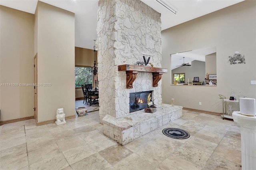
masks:
<svg viewBox="0 0 256 170"><path fill-rule="evenodd" d="M212 53L205 56L205 73L216 74L216 53Z"/></svg>

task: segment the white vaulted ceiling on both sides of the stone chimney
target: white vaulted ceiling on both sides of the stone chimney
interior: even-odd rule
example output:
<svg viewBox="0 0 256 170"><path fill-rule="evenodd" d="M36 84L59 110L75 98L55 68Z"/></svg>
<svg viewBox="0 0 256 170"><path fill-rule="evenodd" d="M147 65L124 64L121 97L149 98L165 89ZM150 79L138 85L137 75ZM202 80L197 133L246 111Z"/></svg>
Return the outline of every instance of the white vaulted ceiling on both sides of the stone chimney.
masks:
<svg viewBox="0 0 256 170"><path fill-rule="evenodd" d="M98 0L41 0L47 4L75 13L75 46L93 49L97 38ZM156 0L141 0L161 13L162 30L220 10L243 0L166 0L177 10L176 15ZM0 0L0 5L35 13L38 0Z"/></svg>

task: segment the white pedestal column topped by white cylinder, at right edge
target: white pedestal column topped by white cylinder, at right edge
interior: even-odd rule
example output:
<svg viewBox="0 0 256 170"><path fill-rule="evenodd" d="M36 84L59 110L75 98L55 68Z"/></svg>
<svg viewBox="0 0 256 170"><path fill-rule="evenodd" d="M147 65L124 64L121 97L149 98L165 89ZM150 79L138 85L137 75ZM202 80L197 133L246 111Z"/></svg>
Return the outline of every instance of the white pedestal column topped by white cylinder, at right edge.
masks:
<svg viewBox="0 0 256 170"><path fill-rule="evenodd" d="M255 99L240 98L240 111L232 113L241 127L242 170L256 170L256 110Z"/></svg>

